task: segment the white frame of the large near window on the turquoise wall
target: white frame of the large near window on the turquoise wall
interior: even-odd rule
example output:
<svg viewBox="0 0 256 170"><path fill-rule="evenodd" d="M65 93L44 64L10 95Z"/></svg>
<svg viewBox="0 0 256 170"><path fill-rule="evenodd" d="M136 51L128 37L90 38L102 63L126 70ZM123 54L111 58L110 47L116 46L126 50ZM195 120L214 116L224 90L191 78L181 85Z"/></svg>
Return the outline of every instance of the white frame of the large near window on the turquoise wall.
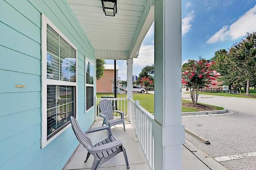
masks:
<svg viewBox="0 0 256 170"><path fill-rule="evenodd" d="M59 34L65 41L67 41L76 51L76 82L68 82L61 80L47 79L47 25L49 25L55 32ZM75 115L78 117L78 89L77 89L77 60L76 46L64 35L59 29L44 15L41 14L41 149L45 148L51 141L63 133L71 126L69 123L66 127L62 128L50 139L47 139L47 85L60 85L60 86L74 86L75 87Z"/></svg>

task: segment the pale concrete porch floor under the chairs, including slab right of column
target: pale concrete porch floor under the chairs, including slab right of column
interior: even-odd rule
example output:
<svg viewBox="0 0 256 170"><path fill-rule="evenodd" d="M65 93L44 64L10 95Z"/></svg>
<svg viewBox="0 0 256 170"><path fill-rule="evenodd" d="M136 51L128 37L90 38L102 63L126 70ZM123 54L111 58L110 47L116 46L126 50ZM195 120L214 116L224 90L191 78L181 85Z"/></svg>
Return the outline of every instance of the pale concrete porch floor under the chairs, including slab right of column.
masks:
<svg viewBox="0 0 256 170"><path fill-rule="evenodd" d="M96 121L92 128L101 126L101 121ZM122 140L123 146L126 149L127 157L129 160L129 165L131 170L149 170L150 167L147 164L147 160L144 157L143 151L140 147L139 142L134 140L135 133L129 122L125 122L125 129L123 131L122 125L116 125L111 128L112 134L117 138ZM90 134L90 138L93 143L97 143L104 138L106 138L106 131L100 131ZM197 169L206 170L209 169L205 164L203 164L197 157L195 157L191 152L189 152L185 147L182 147L183 154L183 168L182 169ZM93 156L91 155L87 162L86 160L87 150L79 144L78 148L74 152L73 156L67 162L66 166L63 167L64 170L86 170L90 169L93 163ZM123 170L126 169L125 161L122 152L116 155L111 160L103 163L99 169L102 170Z"/></svg>

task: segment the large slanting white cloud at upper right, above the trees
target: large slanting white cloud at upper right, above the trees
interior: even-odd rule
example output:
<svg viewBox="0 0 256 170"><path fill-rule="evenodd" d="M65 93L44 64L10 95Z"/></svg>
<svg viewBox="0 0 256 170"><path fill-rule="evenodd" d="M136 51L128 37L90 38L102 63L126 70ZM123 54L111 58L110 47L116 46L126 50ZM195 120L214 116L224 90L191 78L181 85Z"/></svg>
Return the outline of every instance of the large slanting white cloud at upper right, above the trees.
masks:
<svg viewBox="0 0 256 170"><path fill-rule="evenodd" d="M247 32L256 31L256 5L249 11L244 13L243 16L234 21L230 26L224 26L214 35L212 35L207 43L215 43L227 39L238 39L244 36Z"/></svg>

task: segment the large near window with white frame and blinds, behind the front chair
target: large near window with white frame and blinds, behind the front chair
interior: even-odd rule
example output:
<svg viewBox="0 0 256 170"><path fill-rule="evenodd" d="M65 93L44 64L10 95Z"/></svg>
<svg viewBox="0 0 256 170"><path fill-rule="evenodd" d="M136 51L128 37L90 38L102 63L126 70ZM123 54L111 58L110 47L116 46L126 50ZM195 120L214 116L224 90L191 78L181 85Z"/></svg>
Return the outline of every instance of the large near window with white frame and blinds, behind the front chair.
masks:
<svg viewBox="0 0 256 170"><path fill-rule="evenodd" d="M77 48L44 15L41 26L41 147L70 126L77 110Z"/></svg>

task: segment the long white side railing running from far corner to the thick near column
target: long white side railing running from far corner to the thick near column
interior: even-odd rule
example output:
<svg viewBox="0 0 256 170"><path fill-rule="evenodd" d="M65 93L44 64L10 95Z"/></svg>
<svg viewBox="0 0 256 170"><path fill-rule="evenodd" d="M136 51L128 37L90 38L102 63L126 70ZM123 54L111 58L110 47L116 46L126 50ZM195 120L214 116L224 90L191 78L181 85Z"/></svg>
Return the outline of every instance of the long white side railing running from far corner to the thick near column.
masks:
<svg viewBox="0 0 256 170"><path fill-rule="evenodd" d="M139 105L139 101L127 100L130 120L132 127L136 133L145 157L151 169L154 169L154 135L152 134L152 125L154 115Z"/></svg>

